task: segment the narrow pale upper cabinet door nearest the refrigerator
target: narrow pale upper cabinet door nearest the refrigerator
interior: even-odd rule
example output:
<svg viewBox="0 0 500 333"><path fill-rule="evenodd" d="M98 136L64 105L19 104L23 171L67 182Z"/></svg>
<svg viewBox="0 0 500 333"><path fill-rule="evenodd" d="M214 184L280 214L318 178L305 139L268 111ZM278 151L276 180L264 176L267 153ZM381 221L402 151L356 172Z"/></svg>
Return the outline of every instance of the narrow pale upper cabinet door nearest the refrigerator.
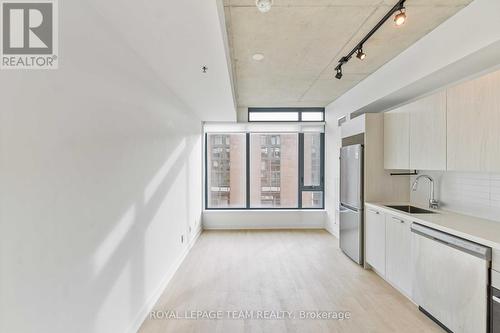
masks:
<svg viewBox="0 0 500 333"><path fill-rule="evenodd" d="M410 168L410 115L407 106L384 114L384 168Z"/></svg>

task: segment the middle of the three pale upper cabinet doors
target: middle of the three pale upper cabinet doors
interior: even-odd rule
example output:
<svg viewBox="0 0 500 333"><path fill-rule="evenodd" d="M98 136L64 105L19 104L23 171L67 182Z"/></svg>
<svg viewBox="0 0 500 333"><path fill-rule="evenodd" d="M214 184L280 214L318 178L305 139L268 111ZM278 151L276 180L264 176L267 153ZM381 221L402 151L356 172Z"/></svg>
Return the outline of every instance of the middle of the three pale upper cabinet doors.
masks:
<svg viewBox="0 0 500 333"><path fill-rule="evenodd" d="M446 91L408 104L410 169L446 170Z"/></svg>

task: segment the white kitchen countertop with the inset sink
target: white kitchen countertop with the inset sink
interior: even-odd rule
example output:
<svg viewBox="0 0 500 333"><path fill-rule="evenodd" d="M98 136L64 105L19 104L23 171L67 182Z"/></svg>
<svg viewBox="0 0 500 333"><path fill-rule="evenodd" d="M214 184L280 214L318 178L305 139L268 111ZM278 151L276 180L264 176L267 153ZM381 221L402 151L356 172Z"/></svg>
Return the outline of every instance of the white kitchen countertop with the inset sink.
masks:
<svg viewBox="0 0 500 333"><path fill-rule="evenodd" d="M434 211L435 214L409 214L397 209L386 207L386 205L409 205L409 203L366 202L365 205L367 208L371 207L377 210L384 210L389 212L391 215L402 219L417 222L430 228L441 230L443 232L500 250L500 222L444 210L430 209ZM420 208L428 209L425 207Z"/></svg>

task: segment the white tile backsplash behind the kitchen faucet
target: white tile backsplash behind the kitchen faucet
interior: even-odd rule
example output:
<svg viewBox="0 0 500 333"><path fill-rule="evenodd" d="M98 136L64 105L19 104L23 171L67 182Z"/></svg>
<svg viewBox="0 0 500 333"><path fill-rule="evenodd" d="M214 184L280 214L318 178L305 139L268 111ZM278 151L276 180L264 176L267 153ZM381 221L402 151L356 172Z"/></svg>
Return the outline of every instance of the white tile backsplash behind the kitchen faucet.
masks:
<svg viewBox="0 0 500 333"><path fill-rule="evenodd" d="M436 198L445 210L500 222L500 174L421 171L434 178ZM411 177L411 184L415 176ZM419 181L411 202L427 206L429 183Z"/></svg>

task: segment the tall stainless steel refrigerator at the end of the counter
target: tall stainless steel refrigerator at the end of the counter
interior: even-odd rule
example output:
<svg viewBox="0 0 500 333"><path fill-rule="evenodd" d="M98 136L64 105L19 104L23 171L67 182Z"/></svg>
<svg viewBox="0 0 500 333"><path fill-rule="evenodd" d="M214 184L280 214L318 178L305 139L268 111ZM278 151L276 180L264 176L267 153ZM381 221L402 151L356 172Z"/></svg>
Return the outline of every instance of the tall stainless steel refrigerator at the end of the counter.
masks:
<svg viewBox="0 0 500 333"><path fill-rule="evenodd" d="M363 263L363 146L340 149L340 248Z"/></svg>

